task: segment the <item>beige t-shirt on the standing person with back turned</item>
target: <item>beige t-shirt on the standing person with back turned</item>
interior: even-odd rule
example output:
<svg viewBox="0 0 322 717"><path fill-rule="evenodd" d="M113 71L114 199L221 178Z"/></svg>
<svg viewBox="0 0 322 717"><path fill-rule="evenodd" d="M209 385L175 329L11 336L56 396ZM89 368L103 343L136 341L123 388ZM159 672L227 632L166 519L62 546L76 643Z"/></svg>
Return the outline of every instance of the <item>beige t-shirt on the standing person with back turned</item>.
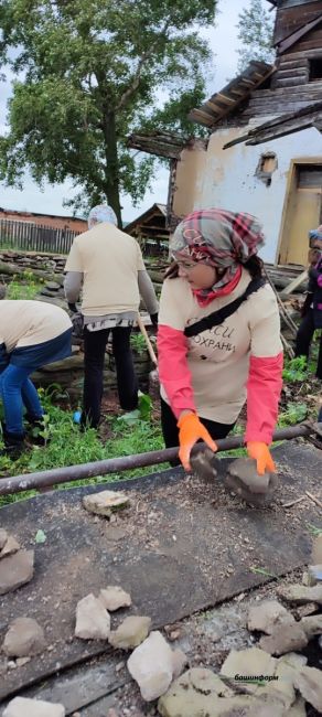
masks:
<svg viewBox="0 0 322 717"><path fill-rule="evenodd" d="M144 269L136 239L107 222L74 239L65 266L65 271L84 275L85 317L138 311L138 271Z"/></svg>

